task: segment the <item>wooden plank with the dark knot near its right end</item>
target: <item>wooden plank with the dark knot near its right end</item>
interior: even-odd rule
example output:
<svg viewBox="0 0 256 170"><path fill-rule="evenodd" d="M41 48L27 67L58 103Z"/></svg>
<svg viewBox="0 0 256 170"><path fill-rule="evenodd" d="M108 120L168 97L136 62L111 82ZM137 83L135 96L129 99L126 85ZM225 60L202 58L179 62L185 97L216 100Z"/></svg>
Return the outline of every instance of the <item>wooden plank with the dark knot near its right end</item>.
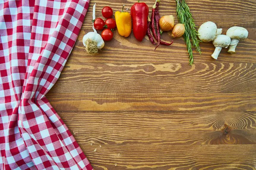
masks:
<svg viewBox="0 0 256 170"><path fill-rule="evenodd" d="M80 145L256 144L255 112L59 111ZM231 131L224 135L227 124Z"/></svg>

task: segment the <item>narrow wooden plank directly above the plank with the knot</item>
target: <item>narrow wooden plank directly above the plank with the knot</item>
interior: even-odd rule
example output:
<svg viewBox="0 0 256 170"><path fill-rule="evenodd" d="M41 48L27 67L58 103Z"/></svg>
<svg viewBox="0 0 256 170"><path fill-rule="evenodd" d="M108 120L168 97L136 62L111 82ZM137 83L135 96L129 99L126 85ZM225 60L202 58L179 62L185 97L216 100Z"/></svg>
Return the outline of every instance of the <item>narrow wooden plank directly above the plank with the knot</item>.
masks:
<svg viewBox="0 0 256 170"><path fill-rule="evenodd" d="M56 111L256 111L255 93L48 93Z"/></svg>

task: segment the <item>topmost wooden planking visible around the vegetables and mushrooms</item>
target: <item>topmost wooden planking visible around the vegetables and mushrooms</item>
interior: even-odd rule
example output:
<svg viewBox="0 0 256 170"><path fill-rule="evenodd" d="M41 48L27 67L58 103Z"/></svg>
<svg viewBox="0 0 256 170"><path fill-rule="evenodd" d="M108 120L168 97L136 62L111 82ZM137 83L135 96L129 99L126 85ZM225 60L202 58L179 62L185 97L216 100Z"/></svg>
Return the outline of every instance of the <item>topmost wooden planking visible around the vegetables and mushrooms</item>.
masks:
<svg viewBox="0 0 256 170"><path fill-rule="evenodd" d="M173 39L174 43L168 46L159 46L154 51L155 46L151 44L146 36L142 42L138 42L133 34L128 38L121 37L117 31L114 32L114 38L105 43L105 47L97 55L88 55L84 52L82 38L91 29L92 6L96 1L91 1L89 11L86 14L82 30L75 43L73 52L69 57L69 63L186 63L188 62L186 45L183 38ZM121 10L125 4L125 11L130 12L130 7L134 4L133 0L116 1L97 1L96 17L102 17L101 9L104 6L111 6L113 11ZM145 0L149 11L154 4L154 0ZM202 55L193 51L195 63L255 63L256 58L256 2L255 0L187 0L190 11L195 19L195 24L200 26L203 22L215 22L219 28L223 29L223 34L232 26L245 27L249 31L248 38L240 41L236 47L236 54L227 53L227 49L222 49L217 61L211 58L214 51L214 45L209 43L200 43ZM159 5L160 15L172 14L175 23L178 23L176 17L175 0L161 0ZM100 33L100 31L99 31ZM161 38L165 41L171 41L171 32L164 33Z"/></svg>

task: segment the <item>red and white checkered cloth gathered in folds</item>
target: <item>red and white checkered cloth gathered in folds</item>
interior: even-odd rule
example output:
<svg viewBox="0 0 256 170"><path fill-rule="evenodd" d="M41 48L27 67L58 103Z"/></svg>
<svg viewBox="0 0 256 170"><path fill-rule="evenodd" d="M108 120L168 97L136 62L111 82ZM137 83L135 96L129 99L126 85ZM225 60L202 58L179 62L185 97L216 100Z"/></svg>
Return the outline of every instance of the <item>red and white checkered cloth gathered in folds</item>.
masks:
<svg viewBox="0 0 256 170"><path fill-rule="evenodd" d="M0 169L85 169L86 156L45 98L89 0L0 0Z"/></svg>

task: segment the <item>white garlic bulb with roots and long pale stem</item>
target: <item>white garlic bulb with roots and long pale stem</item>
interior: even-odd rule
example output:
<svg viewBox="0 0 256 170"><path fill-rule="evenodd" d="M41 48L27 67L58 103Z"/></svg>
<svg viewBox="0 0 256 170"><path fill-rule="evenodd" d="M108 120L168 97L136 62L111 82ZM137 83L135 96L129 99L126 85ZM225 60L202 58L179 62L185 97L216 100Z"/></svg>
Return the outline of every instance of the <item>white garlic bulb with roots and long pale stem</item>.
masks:
<svg viewBox="0 0 256 170"><path fill-rule="evenodd" d="M95 20L95 8L96 3L93 6L92 17ZM93 25L93 24L92 24ZM83 45L85 46L85 51L89 54L97 54L98 50L103 48L105 43L102 37L97 33L97 30L92 26L94 32L89 32L83 36Z"/></svg>

